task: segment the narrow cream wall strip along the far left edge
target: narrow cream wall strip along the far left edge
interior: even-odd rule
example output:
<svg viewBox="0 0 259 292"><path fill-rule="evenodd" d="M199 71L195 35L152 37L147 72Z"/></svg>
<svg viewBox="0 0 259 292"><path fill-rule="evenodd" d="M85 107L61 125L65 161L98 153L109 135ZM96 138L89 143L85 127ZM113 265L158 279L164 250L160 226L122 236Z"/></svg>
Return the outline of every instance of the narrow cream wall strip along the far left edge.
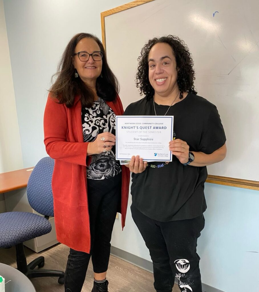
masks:
<svg viewBox="0 0 259 292"><path fill-rule="evenodd" d="M0 173L2 173L23 168L3 0L0 0L0 64ZM0 194L0 213L5 211L4 195Z"/></svg>

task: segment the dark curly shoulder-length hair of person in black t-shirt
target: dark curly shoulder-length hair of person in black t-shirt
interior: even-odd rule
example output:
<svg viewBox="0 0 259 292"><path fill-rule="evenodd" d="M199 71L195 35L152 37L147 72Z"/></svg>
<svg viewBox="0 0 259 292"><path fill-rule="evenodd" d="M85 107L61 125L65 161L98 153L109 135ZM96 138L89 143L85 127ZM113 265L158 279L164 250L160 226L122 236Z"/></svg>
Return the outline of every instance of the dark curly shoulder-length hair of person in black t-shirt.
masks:
<svg viewBox="0 0 259 292"><path fill-rule="evenodd" d="M166 43L173 50L178 70L177 84L180 90L180 98L182 98L184 91L197 94L193 84L195 72L192 68L193 60L189 49L178 36L169 34L168 36L150 39L141 50L140 56L138 57L138 72L135 79L136 86L140 89L140 95L144 93L146 99L151 99L155 93L148 78L148 55L151 48L157 43Z"/></svg>

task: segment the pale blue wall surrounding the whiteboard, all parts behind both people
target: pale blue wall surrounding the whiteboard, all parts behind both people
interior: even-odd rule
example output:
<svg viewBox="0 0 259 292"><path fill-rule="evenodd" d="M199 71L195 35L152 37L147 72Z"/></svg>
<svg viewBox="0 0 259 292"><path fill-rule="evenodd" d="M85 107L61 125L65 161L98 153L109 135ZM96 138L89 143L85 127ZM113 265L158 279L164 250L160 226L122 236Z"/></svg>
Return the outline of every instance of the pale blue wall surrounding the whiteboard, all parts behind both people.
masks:
<svg viewBox="0 0 259 292"><path fill-rule="evenodd" d="M25 167L46 156L42 126L46 89L67 42L83 31L101 38L100 12L127 2L4 0ZM259 251L258 192L206 184L206 199L206 227L198 245L203 282L226 292L258 291L259 253L249 252ZM116 220L112 245L150 259L130 210L123 232Z"/></svg>

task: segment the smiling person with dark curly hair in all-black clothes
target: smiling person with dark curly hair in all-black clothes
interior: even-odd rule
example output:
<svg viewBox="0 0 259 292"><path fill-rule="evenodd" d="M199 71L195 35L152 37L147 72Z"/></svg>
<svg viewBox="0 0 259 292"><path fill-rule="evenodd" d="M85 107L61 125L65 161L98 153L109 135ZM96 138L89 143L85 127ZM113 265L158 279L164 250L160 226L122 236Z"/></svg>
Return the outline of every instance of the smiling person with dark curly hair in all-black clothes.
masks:
<svg viewBox="0 0 259 292"><path fill-rule="evenodd" d="M145 97L125 115L174 116L172 162L133 156L132 217L154 268L157 292L201 290L197 239L204 228L206 165L225 158L225 133L217 108L194 90L193 60L178 37L151 39L138 58L137 87Z"/></svg>

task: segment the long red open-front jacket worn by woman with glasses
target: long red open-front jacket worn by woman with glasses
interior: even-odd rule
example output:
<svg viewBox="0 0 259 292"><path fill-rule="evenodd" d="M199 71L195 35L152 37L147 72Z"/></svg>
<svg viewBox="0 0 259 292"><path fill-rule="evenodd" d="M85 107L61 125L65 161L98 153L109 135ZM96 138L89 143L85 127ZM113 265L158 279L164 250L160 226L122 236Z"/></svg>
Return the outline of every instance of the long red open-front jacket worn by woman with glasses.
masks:
<svg viewBox="0 0 259 292"><path fill-rule="evenodd" d="M119 96L107 105L116 115L123 114ZM52 177L55 227L57 239L77 251L90 252L86 160L88 142L84 142L81 101L75 97L70 108L59 104L50 95L44 112L44 144L48 155L55 159ZM87 156L87 159L86 159ZM121 224L125 225L130 172L122 166Z"/></svg>

